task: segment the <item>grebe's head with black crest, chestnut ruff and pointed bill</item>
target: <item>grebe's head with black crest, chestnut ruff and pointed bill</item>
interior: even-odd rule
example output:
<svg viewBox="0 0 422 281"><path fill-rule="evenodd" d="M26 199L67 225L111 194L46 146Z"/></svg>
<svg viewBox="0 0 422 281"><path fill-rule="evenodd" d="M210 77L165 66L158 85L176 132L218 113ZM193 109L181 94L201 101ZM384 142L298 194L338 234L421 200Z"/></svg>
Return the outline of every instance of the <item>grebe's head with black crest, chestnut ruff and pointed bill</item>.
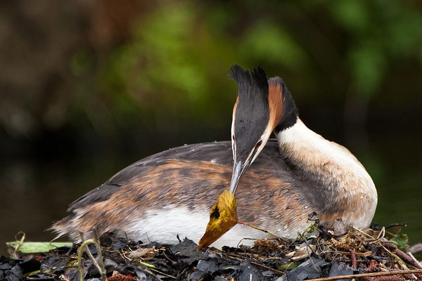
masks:
<svg viewBox="0 0 422 281"><path fill-rule="evenodd" d="M268 80L261 67L243 70L233 65L230 76L238 84L231 122L234 168L230 191L234 193L245 169L260 154L272 131L293 126L298 113L283 80Z"/></svg>

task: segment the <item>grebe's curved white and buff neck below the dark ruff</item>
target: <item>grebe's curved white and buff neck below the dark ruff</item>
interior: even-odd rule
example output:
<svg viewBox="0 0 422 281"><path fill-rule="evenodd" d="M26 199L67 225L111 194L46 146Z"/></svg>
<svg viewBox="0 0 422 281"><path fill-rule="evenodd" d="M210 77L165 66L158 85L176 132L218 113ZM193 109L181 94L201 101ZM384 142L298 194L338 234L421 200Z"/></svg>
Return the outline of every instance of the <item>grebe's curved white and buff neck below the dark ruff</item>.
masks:
<svg viewBox="0 0 422 281"><path fill-rule="evenodd" d="M320 200L325 211L343 209L343 214L350 216L343 220L354 221L355 226L369 226L376 209L376 188L349 150L314 133L299 118L276 137L281 157L292 167L295 178L314 194L310 200ZM362 208L364 211L356 210Z"/></svg>

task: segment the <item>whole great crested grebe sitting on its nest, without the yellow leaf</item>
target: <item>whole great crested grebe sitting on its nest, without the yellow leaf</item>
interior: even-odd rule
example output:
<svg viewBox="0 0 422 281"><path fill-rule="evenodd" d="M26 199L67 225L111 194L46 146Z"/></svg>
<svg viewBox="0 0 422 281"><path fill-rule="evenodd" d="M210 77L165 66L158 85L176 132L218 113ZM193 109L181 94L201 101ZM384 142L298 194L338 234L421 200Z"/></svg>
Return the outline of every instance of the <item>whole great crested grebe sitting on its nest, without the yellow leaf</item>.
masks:
<svg viewBox="0 0 422 281"><path fill-rule="evenodd" d="M95 227L135 241L174 244L179 235L198 242L210 208L229 186L239 220L281 237L305 230L312 212L321 221L369 226L376 188L352 153L300 121L281 78L267 80L262 68L237 65L231 77L238 84L231 142L185 145L141 159L73 202L71 214L52 229L72 240ZM269 140L272 132L276 141ZM244 237L269 235L237 225L212 245L236 246Z"/></svg>

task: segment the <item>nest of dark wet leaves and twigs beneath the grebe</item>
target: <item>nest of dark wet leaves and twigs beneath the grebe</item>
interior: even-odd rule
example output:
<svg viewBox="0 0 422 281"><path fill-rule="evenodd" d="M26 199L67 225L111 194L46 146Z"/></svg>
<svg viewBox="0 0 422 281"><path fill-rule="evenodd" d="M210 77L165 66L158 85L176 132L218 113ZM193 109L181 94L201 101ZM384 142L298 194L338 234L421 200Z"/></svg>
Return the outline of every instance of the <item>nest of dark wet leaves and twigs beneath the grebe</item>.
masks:
<svg viewBox="0 0 422 281"><path fill-rule="evenodd" d="M401 226L357 230L341 220L331 226L316 220L296 240L256 240L253 247L207 251L197 251L187 238L167 246L103 235L100 249L98 240L87 240L87 247L78 244L20 259L2 256L0 280L80 280L79 270L83 280L110 281L421 280L421 263L407 250L405 236L397 235Z"/></svg>

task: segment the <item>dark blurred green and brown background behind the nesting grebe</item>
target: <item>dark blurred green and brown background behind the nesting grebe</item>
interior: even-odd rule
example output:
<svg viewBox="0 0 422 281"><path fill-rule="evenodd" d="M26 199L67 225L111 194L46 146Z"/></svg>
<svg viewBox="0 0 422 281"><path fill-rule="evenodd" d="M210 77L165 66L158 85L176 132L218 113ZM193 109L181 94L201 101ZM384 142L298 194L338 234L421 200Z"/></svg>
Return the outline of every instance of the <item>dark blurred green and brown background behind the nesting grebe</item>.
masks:
<svg viewBox="0 0 422 281"><path fill-rule="evenodd" d="M422 2L1 1L0 244L44 230L128 164L229 140L229 67L283 77L350 148L375 221L422 240Z"/></svg>

